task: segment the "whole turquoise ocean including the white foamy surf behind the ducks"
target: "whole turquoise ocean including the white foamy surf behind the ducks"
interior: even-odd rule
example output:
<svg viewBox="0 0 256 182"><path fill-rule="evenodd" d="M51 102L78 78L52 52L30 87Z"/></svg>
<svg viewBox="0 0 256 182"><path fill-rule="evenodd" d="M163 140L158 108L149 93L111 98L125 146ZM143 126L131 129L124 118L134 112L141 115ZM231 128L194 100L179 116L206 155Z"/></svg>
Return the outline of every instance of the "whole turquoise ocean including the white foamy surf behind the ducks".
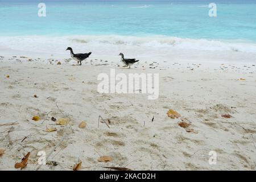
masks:
<svg viewBox="0 0 256 182"><path fill-rule="evenodd" d="M46 4L46 17L38 4ZM217 17L210 17L209 3ZM0 47L98 54L161 48L256 52L256 0L65 1L0 0ZM129 47L130 46L130 47ZM148 49L147 49L148 48Z"/></svg>

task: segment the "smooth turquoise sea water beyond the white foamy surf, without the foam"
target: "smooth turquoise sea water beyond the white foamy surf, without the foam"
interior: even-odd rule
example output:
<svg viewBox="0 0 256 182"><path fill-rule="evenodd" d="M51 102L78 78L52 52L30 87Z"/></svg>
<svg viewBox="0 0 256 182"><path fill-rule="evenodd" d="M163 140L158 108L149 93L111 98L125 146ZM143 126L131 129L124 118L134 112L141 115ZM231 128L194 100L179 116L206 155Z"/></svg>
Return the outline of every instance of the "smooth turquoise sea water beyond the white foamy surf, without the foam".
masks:
<svg viewBox="0 0 256 182"><path fill-rule="evenodd" d="M256 1L0 1L0 36L165 35L256 42ZM43 2L43 1L42 1Z"/></svg>

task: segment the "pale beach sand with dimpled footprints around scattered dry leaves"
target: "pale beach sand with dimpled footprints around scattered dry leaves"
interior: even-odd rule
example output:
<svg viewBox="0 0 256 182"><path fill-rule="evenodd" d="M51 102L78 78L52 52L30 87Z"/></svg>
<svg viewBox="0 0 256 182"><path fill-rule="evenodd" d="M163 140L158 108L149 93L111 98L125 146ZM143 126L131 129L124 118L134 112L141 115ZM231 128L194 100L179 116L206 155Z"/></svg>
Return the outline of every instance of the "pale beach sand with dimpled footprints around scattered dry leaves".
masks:
<svg viewBox="0 0 256 182"><path fill-rule="evenodd" d="M255 170L256 68L250 63L168 62L168 67L163 67L141 61L137 68L126 69L115 63L95 65L109 63L104 60L79 67L72 66L74 61L65 64L60 60L63 64L56 65L56 61L46 64L38 59L9 59L6 56L0 62L0 124L18 124L0 126L0 148L6 150L0 156L0 170L14 170L14 164L28 151L31 155L23 170L35 170L36 154L41 150L46 151L47 162L57 162L57 166L47 164L40 170L72 170L80 160L81 170L104 170L103 166ZM97 76L109 74L110 68L125 74L159 73L159 99L147 100L142 94L98 93ZM195 133L180 127L180 118L168 118L169 109L188 118ZM222 118L222 114L232 118ZM42 120L32 121L34 115ZM99 115L110 120L110 129L105 123L98 128ZM51 117L71 119L74 133L68 125L55 125ZM85 129L79 129L81 121L86 121ZM57 131L47 133L46 126ZM209 151L217 152L216 165L208 163ZM113 161L98 162L102 155L111 156Z"/></svg>

